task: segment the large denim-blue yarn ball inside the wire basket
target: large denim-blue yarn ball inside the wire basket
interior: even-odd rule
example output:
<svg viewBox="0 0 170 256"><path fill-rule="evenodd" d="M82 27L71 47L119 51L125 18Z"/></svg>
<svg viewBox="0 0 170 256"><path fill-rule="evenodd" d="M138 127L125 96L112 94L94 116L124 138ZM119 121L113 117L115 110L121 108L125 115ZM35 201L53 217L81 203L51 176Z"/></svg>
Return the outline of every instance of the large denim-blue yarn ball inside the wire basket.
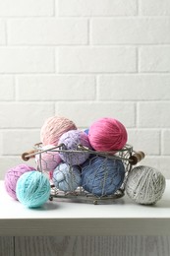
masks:
<svg viewBox="0 0 170 256"><path fill-rule="evenodd" d="M96 196L114 194L121 187L124 177L122 160L93 157L82 165L82 186Z"/></svg>

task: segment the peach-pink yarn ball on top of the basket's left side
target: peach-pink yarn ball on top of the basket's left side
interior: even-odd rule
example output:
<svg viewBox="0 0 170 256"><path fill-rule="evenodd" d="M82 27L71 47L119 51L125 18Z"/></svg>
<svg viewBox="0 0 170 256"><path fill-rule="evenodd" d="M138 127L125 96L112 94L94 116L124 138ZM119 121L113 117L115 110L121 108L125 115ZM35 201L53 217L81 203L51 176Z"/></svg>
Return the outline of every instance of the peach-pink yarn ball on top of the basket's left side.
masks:
<svg viewBox="0 0 170 256"><path fill-rule="evenodd" d="M58 145L63 133L76 130L76 124L66 117L49 117L40 129L40 140L43 145Z"/></svg>

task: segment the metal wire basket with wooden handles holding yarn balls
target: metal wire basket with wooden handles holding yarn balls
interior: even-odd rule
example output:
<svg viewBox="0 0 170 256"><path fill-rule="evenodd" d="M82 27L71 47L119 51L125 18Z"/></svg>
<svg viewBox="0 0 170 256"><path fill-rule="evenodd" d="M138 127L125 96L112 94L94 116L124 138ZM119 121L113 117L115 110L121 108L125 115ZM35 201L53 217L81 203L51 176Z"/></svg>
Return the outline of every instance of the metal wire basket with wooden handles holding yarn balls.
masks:
<svg viewBox="0 0 170 256"><path fill-rule="evenodd" d="M44 171L42 167L42 161L44 164L44 160L42 160L42 154L43 153L52 153L58 152L58 153L65 153L68 155L68 158L71 160L75 155L79 154L88 154L90 155L90 159L93 160L94 158L97 157L102 157L103 162L107 162L107 160L121 160L124 164L125 167L125 176L124 180L119 187L113 194L111 195L100 195L97 196L93 193L89 193L85 191L84 187L79 186L76 188L74 191L62 191L58 188L55 187L53 178L50 177L49 171ZM71 200L72 202L93 202L93 204L98 204L98 203L103 203L103 202L109 202L113 201L114 199L118 199L124 196L125 192L125 185L126 185L126 180L128 178L128 175L133 167L133 165L137 164L139 161L141 161L144 158L144 153L143 152L135 152L133 150L133 147L131 145L126 145L122 150L115 151L115 152L97 152L93 150L89 150L85 148L82 145L78 145L76 150L65 150L64 145L59 145L56 147L51 147L50 149L43 149L43 146L41 143L35 144L33 146L33 150L28 151L22 155L23 160L29 160L30 158L34 158L36 155L39 156L39 161L37 163L37 170L47 173L49 176L49 180L51 183L51 196L50 200L53 200L53 198L59 198L61 200ZM47 164L47 162L46 162ZM90 164L90 160L89 160ZM105 164L103 163L103 172L106 172L105 170ZM79 166L81 168L81 165ZM73 165L69 164L69 172L73 172Z"/></svg>

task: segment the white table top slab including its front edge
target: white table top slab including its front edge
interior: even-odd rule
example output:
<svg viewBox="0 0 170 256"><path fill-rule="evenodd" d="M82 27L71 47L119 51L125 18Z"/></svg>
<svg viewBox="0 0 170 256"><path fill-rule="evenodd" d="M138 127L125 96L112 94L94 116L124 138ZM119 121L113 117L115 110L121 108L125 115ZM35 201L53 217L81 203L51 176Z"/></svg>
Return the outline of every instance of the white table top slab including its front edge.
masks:
<svg viewBox="0 0 170 256"><path fill-rule="evenodd" d="M77 227L79 228L79 225L84 223L84 228L87 228L87 224L89 224L88 227L92 230L91 222L92 224L98 225L102 223L101 228L105 226L104 224L107 224L107 227L111 228L109 225L114 222L115 224L119 222L121 222L121 224L130 224L131 222L138 224L139 222L142 223L143 220L147 220L150 224L153 221L157 223L159 221L160 226L161 222L165 220L170 223L170 180L166 180L166 188L162 199L153 206L136 204L125 195L120 199L111 201L111 203L104 202L98 205L94 205L92 202L80 203L76 200L70 202L65 199L54 198L52 202L48 201L41 208L28 209L7 194L3 180L0 181L0 195L1 231L7 230L8 228L9 231L10 228L11 230L15 229L17 224L20 224L20 228L22 228L23 224L28 224L27 228L29 228L29 224L30 226L35 224L39 224L39 226L41 224L50 226L51 224L52 227L55 224L57 226L61 224L60 227L62 229L65 224L67 228L69 224L78 225ZM73 226L70 226L70 228L72 227ZM157 228L159 228L159 226L157 226Z"/></svg>

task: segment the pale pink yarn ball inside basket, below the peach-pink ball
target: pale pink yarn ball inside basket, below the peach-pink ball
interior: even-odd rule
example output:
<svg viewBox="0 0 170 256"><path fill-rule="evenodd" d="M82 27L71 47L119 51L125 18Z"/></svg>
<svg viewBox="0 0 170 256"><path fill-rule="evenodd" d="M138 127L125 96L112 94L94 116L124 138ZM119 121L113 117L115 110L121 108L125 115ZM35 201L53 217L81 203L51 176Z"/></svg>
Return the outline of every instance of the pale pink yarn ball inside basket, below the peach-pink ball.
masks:
<svg viewBox="0 0 170 256"><path fill-rule="evenodd" d="M52 145L42 146L41 150L47 151L35 155L36 164L44 171L53 171L61 162L58 152L50 151L53 147Z"/></svg>

